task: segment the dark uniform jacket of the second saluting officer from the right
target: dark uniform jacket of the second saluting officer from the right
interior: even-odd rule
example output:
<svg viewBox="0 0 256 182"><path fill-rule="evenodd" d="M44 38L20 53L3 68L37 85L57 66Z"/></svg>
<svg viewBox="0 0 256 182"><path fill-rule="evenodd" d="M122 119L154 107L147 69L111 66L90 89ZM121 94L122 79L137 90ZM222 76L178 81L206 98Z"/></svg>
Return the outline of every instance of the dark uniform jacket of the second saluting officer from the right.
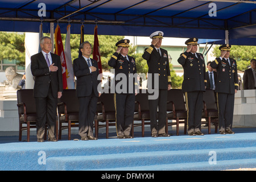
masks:
<svg viewBox="0 0 256 182"><path fill-rule="evenodd" d="M205 72L205 61L201 53L193 55L191 52L181 53L177 60L184 69L182 91L205 91L207 85L206 72Z"/></svg>

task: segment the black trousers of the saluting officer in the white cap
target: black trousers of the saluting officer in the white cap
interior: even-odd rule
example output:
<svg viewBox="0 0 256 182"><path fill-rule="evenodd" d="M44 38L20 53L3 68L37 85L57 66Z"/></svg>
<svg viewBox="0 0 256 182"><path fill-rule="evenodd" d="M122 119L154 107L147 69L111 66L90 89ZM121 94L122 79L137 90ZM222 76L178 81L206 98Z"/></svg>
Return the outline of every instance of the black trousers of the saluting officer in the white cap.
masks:
<svg viewBox="0 0 256 182"><path fill-rule="evenodd" d="M152 135L166 133L167 93L167 90L159 89L158 98L148 99Z"/></svg>

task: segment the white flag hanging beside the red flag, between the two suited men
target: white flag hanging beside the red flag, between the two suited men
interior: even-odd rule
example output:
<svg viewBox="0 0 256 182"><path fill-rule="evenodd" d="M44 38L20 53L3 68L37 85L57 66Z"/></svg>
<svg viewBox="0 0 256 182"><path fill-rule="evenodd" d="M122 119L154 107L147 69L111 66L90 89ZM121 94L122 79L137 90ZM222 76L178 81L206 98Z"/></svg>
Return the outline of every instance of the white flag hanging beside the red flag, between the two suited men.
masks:
<svg viewBox="0 0 256 182"><path fill-rule="evenodd" d="M71 57L71 46L70 46L70 27L71 25L68 24L67 26L67 35L65 41L65 58L67 64L67 85L69 89L75 89L75 82L74 82L74 73L72 67L72 57Z"/></svg>

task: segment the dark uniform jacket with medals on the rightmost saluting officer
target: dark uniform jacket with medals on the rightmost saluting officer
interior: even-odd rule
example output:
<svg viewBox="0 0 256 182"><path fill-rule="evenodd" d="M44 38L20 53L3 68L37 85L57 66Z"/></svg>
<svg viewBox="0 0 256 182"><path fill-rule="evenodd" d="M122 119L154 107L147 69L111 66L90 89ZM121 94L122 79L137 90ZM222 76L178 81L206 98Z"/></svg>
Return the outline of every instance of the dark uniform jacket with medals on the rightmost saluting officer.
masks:
<svg viewBox="0 0 256 182"><path fill-rule="evenodd" d="M217 57L210 67L217 69L215 92L234 94L238 90L237 62L229 57L230 64L225 59Z"/></svg>

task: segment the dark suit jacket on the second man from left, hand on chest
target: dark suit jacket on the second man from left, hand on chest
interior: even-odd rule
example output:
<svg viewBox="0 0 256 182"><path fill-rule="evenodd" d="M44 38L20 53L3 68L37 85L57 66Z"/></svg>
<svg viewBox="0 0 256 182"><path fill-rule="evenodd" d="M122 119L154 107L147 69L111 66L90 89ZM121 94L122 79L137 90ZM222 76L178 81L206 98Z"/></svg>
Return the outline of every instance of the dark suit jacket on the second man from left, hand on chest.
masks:
<svg viewBox="0 0 256 182"><path fill-rule="evenodd" d="M90 73L90 69L84 57L80 56L79 58L73 61L73 71L74 75L77 78L76 82L76 96L77 97L86 97L92 94L92 89L95 96L98 97L98 84L100 84L100 80L97 80L99 72L98 72L98 63L94 59L90 59L92 61L92 66L96 67L97 70L95 72Z"/></svg>

